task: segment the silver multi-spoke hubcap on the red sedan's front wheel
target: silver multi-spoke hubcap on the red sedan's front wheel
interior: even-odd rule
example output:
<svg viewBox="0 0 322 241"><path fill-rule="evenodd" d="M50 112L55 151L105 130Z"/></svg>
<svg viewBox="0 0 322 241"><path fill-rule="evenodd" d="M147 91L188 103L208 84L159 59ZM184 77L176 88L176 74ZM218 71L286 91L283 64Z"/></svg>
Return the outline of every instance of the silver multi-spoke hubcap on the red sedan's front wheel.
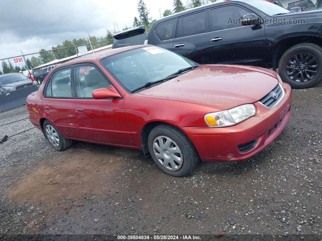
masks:
<svg viewBox="0 0 322 241"><path fill-rule="evenodd" d="M177 171L182 166L182 152L179 146L167 136L160 135L154 139L153 153L156 159L170 171Z"/></svg>

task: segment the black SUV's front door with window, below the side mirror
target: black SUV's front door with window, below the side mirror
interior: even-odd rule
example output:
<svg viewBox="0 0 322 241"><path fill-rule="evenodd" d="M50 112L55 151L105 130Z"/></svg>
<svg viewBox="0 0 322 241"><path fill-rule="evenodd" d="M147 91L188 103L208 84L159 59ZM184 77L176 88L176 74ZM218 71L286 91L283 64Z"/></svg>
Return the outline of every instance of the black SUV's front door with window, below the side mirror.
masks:
<svg viewBox="0 0 322 241"><path fill-rule="evenodd" d="M251 13L229 5L209 9L211 54L213 64L266 64L266 35L264 25L243 26L241 15Z"/></svg>

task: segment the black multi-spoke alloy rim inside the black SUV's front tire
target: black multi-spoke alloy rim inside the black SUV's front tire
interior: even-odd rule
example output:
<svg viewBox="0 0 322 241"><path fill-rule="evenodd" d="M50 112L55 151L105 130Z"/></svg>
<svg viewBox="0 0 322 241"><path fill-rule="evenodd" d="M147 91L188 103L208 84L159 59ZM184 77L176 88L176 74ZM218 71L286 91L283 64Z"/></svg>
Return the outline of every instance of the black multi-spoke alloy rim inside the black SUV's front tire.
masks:
<svg viewBox="0 0 322 241"><path fill-rule="evenodd" d="M294 54L286 64L286 73L296 82L306 82L314 78L318 71L317 59L309 53Z"/></svg>

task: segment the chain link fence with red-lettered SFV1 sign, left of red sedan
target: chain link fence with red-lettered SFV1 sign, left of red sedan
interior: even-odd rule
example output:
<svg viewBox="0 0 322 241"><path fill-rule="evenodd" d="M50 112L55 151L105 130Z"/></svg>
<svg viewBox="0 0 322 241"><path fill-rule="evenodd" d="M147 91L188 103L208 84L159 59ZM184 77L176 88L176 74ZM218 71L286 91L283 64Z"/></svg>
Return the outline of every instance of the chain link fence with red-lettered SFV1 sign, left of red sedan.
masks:
<svg viewBox="0 0 322 241"><path fill-rule="evenodd" d="M113 39L64 48L58 45L51 50L21 51L20 55L5 56L0 59L0 95L38 86L54 67L86 54L109 49L112 43Z"/></svg>

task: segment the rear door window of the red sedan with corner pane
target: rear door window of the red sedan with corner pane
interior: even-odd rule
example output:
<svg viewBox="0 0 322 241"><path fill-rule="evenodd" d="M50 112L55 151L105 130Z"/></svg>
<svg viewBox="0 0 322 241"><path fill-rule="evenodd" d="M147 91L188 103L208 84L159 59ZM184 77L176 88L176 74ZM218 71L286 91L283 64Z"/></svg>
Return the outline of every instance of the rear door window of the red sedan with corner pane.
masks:
<svg viewBox="0 0 322 241"><path fill-rule="evenodd" d="M45 96L71 98L71 68L58 70L52 74Z"/></svg>

